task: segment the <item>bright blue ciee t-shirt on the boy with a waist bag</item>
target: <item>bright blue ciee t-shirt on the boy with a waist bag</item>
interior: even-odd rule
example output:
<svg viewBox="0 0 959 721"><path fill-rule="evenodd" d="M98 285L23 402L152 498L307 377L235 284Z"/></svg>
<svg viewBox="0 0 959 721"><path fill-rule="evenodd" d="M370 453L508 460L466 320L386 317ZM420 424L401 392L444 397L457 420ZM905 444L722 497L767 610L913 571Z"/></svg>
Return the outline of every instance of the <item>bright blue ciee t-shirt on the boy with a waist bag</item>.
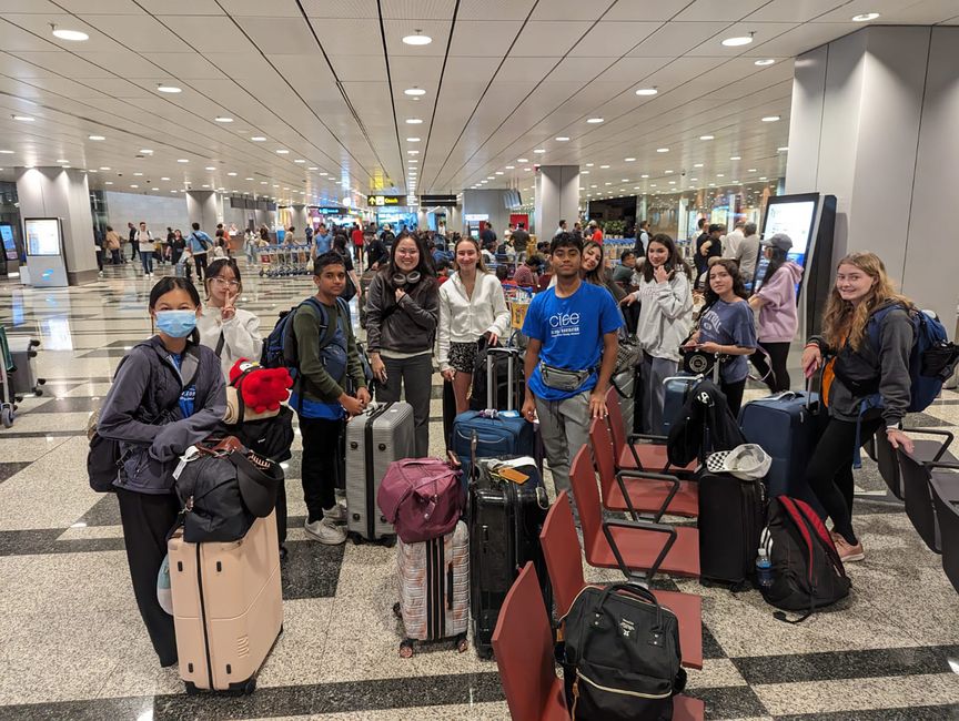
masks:
<svg viewBox="0 0 959 721"><path fill-rule="evenodd" d="M529 389L544 400L563 400L596 387L596 373L603 355L603 336L618 331L623 314L613 295L604 287L581 283L569 297L556 297L549 288L533 297L523 322L523 333L543 345L539 360L567 370L590 369L589 377L575 390L549 388L543 383L539 366L529 377Z"/></svg>

